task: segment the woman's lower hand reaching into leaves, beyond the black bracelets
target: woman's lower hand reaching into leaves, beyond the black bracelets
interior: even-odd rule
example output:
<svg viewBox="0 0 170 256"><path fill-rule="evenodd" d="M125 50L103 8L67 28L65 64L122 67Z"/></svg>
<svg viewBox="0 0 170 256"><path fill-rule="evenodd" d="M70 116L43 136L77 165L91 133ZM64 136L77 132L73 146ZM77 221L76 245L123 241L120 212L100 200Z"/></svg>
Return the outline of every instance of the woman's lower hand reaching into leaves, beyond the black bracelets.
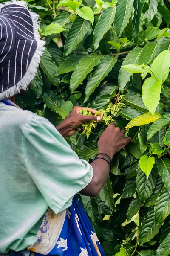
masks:
<svg viewBox="0 0 170 256"><path fill-rule="evenodd" d="M115 123L111 123L102 133L98 141L99 153L106 153L113 158L113 155L125 148L132 140L125 138L125 130L120 130Z"/></svg>

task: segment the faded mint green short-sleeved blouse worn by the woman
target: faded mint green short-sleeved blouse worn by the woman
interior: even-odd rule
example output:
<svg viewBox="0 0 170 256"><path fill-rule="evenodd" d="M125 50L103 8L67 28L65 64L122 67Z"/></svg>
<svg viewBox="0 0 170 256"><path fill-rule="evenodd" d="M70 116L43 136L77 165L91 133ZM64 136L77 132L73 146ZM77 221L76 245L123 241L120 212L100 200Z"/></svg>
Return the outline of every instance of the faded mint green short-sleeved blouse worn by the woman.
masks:
<svg viewBox="0 0 170 256"><path fill-rule="evenodd" d="M48 207L68 208L92 177L47 119L0 103L0 252L34 244Z"/></svg>

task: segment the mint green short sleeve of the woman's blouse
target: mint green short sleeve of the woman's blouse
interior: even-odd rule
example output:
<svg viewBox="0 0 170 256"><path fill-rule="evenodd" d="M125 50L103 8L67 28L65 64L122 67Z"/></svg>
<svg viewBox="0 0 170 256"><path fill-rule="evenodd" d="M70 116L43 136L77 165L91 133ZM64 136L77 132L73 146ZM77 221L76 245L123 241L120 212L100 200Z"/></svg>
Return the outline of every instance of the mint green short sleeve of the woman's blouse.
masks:
<svg viewBox="0 0 170 256"><path fill-rule="evenodd" d="M36 116L25 125L22 150L29 175L56 214L68 208L93 177L92 166L79 159L45 118Z"/></svg>

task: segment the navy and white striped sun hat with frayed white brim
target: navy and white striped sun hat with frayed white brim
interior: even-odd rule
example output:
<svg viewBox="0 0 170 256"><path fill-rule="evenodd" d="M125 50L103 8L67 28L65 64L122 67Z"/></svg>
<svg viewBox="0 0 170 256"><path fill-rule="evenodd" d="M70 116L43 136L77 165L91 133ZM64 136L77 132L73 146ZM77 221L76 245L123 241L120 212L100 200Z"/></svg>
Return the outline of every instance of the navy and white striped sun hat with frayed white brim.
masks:
<svg viewBox="0 0 170 256"><path fill-rule="evenodd" d="M0 99L26 90L37 73L45 45L38 17L24 1L0 4Z"/></svg>

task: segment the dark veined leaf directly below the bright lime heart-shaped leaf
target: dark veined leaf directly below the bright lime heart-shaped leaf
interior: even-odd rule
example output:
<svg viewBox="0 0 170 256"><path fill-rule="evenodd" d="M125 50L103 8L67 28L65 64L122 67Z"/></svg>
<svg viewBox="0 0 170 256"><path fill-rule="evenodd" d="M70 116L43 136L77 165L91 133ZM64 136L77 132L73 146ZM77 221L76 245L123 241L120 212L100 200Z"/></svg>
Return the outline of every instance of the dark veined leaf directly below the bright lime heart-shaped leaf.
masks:
<svg viewBox="0 0 170 256"><path fill-rule="evenodd" d="M146 164L147 162L144 163L144 168L146 168ZM137 167L136 172L136 190L138 192L140 200L142 201L142 203L144 203L144 201L146 201L153 193L156 185L158 170L155 166L153 166L148 178L140 167Z"/></svg>

